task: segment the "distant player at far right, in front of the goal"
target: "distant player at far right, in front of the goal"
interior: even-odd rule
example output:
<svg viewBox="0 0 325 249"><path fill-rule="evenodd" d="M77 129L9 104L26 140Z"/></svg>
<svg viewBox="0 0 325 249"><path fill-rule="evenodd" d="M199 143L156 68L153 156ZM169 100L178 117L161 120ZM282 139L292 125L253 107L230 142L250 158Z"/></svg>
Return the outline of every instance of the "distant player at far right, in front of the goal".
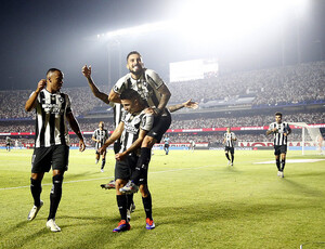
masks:
<svg viewBox="0 0 325 249"><path fill-rule="evenodd" d="M284 178L283 171L286 165L287 140L288 135L291 133L291 129L287 122L282 121L282 113L275 113L275 122L270 124L266 135L271 133L273 133L274 136L274 155L277 167L277 176Z"/></svg>

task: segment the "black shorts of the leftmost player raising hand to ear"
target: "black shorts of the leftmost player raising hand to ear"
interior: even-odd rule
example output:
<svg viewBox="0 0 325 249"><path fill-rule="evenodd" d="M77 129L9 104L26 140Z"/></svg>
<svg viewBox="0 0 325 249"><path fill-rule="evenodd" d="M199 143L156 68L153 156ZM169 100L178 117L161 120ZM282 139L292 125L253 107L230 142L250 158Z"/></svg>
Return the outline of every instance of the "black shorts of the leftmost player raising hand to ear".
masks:
<svg viewBox="0 0 325 249"><path fill-rule="evenodd" d="M49 172L52 170L67 171L69 146L52 145L34 149L31 158L31 173Z"/></svg>

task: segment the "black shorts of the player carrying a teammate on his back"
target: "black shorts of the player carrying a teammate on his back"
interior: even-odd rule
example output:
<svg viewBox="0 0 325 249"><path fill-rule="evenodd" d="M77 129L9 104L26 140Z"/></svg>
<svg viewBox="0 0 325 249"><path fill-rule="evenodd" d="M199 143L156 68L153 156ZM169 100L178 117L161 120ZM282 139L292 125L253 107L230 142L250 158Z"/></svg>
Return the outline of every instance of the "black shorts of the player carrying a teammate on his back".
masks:
<svg viewBox="0 0 325 249"><path fill-rule="evenodd" d="M135 170L136 162L139 157L128 156L122 161L116 161L115 163L115 180L121 179L129 181L132 176L132 173ZM143 179L139 181L139 184L147 184L147 169Z"/></svg>

